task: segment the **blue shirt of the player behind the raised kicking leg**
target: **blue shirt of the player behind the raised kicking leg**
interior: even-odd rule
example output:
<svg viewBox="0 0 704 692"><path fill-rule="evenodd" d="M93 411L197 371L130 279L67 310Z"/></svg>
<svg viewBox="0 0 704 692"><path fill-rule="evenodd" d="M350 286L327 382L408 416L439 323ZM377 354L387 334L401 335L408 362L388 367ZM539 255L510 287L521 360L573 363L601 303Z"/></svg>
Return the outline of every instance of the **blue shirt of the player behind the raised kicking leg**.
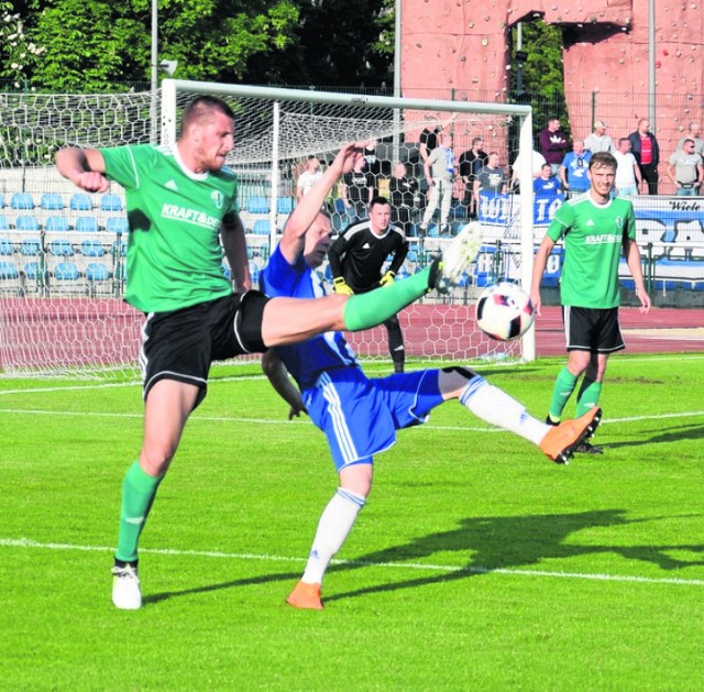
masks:
<svg viewBox="0 0 704 692"><path fill-rule="evenodd" d="M290 265L279 245L262 270L260 284L262 290L272 297L319 298L326 295L320 277L308 266L302 254ZM301 343L276 347L276 353L301 392L315 387L323 371L360 367L350 344L339 331L329 331Z"/></svg>

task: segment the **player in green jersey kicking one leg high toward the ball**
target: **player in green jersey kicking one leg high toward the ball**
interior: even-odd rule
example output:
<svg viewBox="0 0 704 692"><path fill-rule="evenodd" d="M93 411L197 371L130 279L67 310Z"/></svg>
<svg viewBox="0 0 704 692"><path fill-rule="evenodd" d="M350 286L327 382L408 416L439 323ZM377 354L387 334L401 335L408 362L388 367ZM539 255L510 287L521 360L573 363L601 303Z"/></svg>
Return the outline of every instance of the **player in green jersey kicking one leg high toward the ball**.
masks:
<svg viewBox="0 0 704 692"><path fill-rule="evenodd" d="M237 178L226 165L234 146L234 113L226 101L199 96L185 109L175 146L67 147L58 172L77 187L125 190L130 227L125 299L145 314L140 364L144 378L144 437L122 486L113 568L117 607L142 606L138 541L184 427L206 396L212 361L382 323L429 288L448 290L479 251L458 235L443 256L383 292L308 300L251 290ZM362 147L348 144L334 175L352 171ZM307 195L299 205L310 202ZM227 255L234 290L222 274ZM135 354L136 355L136 354Z"/></svg>

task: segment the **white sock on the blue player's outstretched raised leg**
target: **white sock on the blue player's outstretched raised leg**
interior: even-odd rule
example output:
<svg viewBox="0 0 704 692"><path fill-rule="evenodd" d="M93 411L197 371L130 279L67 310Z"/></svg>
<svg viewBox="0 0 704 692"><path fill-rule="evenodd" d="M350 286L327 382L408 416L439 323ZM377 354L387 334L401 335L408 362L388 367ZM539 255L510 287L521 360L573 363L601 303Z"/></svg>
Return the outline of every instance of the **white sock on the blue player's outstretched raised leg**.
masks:
<svg viewBox="0 0 704 692"><path fill-rule="evenodd" d="M515 432L534 444L539 444L550 430L550 426L529 415L522 404L480 375L470 380L460 395L460 404L477 418Z"/></svg>

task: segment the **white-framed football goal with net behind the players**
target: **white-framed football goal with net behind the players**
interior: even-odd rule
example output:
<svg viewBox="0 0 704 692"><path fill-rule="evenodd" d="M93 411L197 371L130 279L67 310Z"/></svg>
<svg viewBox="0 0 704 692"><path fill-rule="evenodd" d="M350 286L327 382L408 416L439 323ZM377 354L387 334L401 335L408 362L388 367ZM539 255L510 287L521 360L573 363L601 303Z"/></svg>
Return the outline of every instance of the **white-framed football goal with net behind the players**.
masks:
<svg viewBox="0 0 704 692"><path fill-rule="evenodd" d="M116 184L105 195L79 193L56 173L53 155L66 145L153 141L158 129L152 114L160 110L161 141L174 143L183 107L199 94L223 98L237 114L229 165L240 179L239 205L254 279L295 208L298 178L309 158L324 167L342 144L366 142L364 175L341 182L327 200L337 231L364 215L361 199L367 187L396 201L394 178L400 173L417 183L403 205L393 206L395 222L410 241L402 277L426 266L471 216L479 213L483 226L482 252L462 285L442 298L428 296L399 315L410 362L535 356L532 330L518 342L492 341L476 329L473 307L488 284L529 281L534 205L528 107L165 80L156 95L0 95L4 376L138 374L143 317L122 300L129 241L124 193ZM424 131L437 127L450 134L454 184L449 212L442 218L438 205L425 226L429 202L419 142ZM475 138L483 140L484 152L497 152L507 174L517 154L528 152L520 167L525 195L480 195L473 205L460 157ZM223 272L229 272L224 261ZM326 266L320 272L330 278ZM350 339L360 355L388 359L385 330Z"/></svg>

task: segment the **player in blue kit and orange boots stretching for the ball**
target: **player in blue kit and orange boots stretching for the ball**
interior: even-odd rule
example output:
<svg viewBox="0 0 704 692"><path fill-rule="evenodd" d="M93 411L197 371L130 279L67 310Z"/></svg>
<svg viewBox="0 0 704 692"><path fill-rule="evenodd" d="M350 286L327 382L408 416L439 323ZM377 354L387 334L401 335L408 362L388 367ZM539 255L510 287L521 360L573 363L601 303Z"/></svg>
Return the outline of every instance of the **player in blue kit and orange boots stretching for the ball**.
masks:
<svg viewBox="0 0 704 692"><path fill-rule="evenodd" d="M336 168L339 166L333 164L326 171L289 217L284 237L262 273L262 289L267 295L323 295L315 268L330 248L330 218L321 206L337 182ZM595 408L578 420L548 426L466 367L367 378L339 331L276 347L264 354L262 364L274 388L290 405L290 416L308 413L326 433L340 479L320 517L302 578L287 598L299 608L322 608L324 571L366 503L374 454L395 443L397 429L425 422L432 408L458 399L482 420L526 438L557 463L565 463L601 419L601 409Z"/></svg>

